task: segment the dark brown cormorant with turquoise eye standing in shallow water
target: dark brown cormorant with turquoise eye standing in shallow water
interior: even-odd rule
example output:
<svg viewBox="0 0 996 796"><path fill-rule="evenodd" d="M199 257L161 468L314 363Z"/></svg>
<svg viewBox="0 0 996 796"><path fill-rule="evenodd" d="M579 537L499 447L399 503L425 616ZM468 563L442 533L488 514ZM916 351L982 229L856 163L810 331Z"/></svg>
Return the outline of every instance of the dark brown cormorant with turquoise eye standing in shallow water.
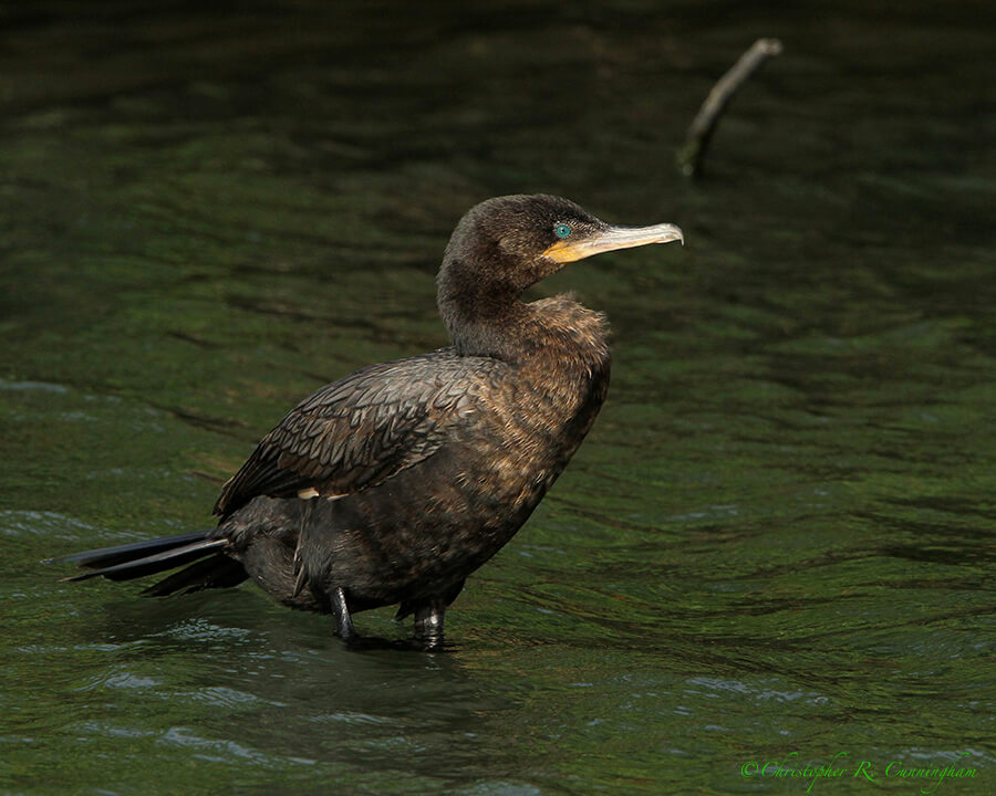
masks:
<svg viewBox="0 0 996 796"><path fill-rule="evenodd" d="M567 199L473 208L439 269L446 348L322 387L262 438L221 490L218 525L79 553L126 580L187 566L153 595L252 578L335 616L400 604L426 646L464 579L522 526L588 433L609 387L605 320L570 296L522 291L599 252L683 240L673 224L612 227Z"/></svg>

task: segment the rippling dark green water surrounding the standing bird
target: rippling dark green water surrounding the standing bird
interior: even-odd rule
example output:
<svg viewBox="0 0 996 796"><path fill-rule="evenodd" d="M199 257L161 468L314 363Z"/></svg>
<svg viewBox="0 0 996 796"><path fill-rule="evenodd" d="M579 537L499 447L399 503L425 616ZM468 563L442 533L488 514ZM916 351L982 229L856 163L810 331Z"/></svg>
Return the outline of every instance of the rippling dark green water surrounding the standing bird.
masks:
<svg viewBox="0 0 996 796"><path fill-rule="evenodd" d="M976 777L937 793L993 793L994 22L0 7L3 792L805 793L744 772L837 756L813 792L955 764ZM685 127L760 35L785 54L684 181ZM148 600L39 564L204 527L300 397L445 343L453 226L538 190L687 245L536 291L609 314L612 391L449 651L347 651L252 587Z"/></svg>

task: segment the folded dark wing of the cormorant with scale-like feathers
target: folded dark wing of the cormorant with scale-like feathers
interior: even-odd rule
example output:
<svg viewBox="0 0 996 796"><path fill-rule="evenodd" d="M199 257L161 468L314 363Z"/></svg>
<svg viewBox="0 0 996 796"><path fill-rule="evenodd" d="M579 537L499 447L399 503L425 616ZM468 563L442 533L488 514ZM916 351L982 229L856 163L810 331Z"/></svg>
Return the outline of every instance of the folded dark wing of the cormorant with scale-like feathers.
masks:
<svg viewBox="0 0 996 796"><path fill-rule="evenodd" d="M332 496L382 483L435 453L505 367L443 348L322 387L262 438L222 488L215 514L228 516L257 495Z"/></svg>

